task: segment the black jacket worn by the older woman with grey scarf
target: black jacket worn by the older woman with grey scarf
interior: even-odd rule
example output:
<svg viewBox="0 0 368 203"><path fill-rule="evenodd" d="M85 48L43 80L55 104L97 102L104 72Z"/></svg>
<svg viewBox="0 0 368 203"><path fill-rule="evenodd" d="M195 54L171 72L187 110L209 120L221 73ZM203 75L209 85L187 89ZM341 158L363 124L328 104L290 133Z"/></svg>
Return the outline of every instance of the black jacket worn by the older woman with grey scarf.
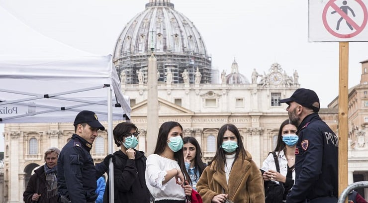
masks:
<svg viewBox="0 0 368 203"><path fill-rule="evenodd" d="M33 194L37 193L37 179L39 184L38 194L41 195L38 200L38 203L57 203L59 197L58 195L51 199L46 198L47 189L46 189L46 175L44 166L41 166L40 168L34 170L34 174L29 179L27 188L23 193L23 201L25 203L33 203L32 196Z"/></svg>

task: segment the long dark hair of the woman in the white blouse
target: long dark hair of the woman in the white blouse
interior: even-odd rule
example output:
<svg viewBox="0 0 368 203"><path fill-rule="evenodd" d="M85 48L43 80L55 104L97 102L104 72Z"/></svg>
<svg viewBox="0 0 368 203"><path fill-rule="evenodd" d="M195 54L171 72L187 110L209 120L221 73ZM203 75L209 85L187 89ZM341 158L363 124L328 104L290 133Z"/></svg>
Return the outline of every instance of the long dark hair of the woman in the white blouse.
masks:
<svg viewBox="0 0 368 203"><path fill-rule="evenodd" d="M168 140L169 132L171 129L173 129L176 126L179 126L183 131L182 125L178 122L168 121L168 122L162 123L159 129L159 135L157 136L156 148L155 148L155 151L153 152L154 154L162 154L164 152L165 147L167 146L166 143ZM183 134L181 134L180 136L183 138ZM191 184L191 180L189 178L188 172L186 172L186 169L185 169L183 148L177 152L174 152L174 159L178 162L180 170L183 172L188 183Z"/></svg>

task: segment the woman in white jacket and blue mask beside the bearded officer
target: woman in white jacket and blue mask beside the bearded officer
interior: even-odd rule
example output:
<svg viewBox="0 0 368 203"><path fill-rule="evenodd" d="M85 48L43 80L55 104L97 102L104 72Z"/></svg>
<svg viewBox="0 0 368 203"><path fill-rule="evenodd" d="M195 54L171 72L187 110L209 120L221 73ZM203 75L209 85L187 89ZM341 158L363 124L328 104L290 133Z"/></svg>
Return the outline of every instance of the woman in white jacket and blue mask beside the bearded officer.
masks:
<svg viewBox="0 0 368 203"><path fill-rule="evenodd" d="M284 120L278 130L277 144L275 152L280 168L280 173L276 171L275 159L272 153L262 164L261 171L265 185L268 181L281 182L283 184L284 194L283 202L286 202L286 196L294 185L295 180L295 148L298 142L298 136L295 134L297 128L290 124L289 119Z"/></svg>

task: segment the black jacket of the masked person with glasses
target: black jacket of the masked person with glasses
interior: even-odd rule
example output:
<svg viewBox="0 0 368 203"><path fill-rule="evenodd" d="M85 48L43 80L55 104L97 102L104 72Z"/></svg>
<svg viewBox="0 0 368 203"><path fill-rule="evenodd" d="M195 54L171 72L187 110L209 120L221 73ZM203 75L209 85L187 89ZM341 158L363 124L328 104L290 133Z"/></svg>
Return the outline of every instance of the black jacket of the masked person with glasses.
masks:
<svg viewBox="0 0 368 203"><path fill-rule="evenodd" d="M135 150L134 160L129 159L120 150L116 151L114 155L115 203L149 203L150 192L145 179L147 158L144 156L144 152ZM111 177L108 178L110 179ZM108 184L106 184L103 195L103 203L109 203Z"/></svg>

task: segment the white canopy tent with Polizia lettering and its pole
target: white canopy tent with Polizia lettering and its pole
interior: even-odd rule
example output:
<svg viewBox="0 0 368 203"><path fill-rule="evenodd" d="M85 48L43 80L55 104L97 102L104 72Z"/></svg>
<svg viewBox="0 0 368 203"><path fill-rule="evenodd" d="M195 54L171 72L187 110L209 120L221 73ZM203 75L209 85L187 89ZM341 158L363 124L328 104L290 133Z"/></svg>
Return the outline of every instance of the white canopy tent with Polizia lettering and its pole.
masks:
<svg viewBox="0 0 368 203"><path fill-rule="evenodd" d="M45 37L1 6L0 18L1 34L11 36L0 37L0 123L73 122L81 110L92 110L108 121L113 153L112 120L129 119L131 108L111 55L92 55Z"/></svg>

